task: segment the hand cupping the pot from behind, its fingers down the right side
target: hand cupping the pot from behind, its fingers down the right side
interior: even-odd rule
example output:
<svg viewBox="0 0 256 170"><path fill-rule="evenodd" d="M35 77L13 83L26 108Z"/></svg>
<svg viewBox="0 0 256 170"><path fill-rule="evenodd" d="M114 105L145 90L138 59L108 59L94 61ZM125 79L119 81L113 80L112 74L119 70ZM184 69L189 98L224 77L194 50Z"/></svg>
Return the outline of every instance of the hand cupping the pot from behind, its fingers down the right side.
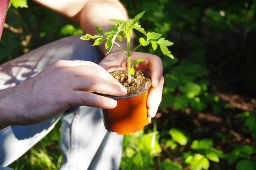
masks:
<svg viewBox="0 0 256 170"><path fill-rule="evenodd" d="M131 63L137 58L143 58L145 62L138 63L134 69L141 70L151 76L152 86L148 92L147 108L149 122L154 118L162 100L163 92L163 64L162 60L152 54L134 52L131 56ZM108 72L127 69L127 59L123 51L113 52L107 55L100 63Z"/></svg>

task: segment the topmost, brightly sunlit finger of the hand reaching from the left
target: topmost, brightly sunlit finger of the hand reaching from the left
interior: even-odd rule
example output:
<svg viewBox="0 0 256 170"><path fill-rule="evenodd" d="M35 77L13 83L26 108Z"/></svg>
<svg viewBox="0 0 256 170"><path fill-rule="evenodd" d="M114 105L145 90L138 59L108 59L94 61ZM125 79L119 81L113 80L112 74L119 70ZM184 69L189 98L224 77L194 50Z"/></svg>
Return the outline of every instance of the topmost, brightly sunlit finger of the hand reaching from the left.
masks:
<svg viewBox="0 0 256 170"><path fill-rule="evenodd" d="M93 76L113 84L122 86L111 74L99 65L67 67L67 72L72 72L77 77Z"/></svg>

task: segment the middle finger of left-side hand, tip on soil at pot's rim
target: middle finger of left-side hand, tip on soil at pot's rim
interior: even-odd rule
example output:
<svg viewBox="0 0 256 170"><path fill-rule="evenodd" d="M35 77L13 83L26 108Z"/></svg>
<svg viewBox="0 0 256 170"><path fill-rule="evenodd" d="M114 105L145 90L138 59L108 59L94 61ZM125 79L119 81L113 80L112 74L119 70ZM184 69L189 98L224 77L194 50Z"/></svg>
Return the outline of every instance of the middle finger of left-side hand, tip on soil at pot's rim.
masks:
<svg viewBox="0 0 256 170"><path fill-rule="evenodd" d="M71 78L70 82L72 82L70 86L74 90L97 92L114 96L123 96L127 94L127 89L125 87L93 76Z"/></svg>

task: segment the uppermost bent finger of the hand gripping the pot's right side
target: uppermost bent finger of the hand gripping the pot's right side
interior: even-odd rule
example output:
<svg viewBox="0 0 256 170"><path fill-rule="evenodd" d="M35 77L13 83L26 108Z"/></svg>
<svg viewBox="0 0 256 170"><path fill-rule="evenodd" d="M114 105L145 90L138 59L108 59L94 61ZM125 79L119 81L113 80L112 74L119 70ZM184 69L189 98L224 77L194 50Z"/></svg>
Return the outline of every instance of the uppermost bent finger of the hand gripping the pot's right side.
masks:
<svg viewBox="0 0 256 170"><path fill-rule="evenodd" d="M143 66L150 71L150 76L152 79L152 87L157 87L162 75L163 75L163 64L162 60L156 56L147 53L137 52L133 59L143 58L145 62L140 62L138 66Z"/></svg>

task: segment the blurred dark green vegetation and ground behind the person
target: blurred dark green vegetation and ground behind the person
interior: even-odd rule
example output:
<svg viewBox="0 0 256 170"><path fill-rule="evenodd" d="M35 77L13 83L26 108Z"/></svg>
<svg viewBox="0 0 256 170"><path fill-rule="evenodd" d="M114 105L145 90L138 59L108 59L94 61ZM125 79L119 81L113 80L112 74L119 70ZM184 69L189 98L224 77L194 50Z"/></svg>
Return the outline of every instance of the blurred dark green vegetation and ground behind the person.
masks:
<svg viewBox="0 0 256 170"><path fill-rule="evenodd" d="M163 59L163 101L153 124L125 135L120 170L256 169L256 0L121 1L131 17L146 11L140 24L175 43L175 60L140 49ZM31 1L12 3L1 63L81 33L77 23ZM9 167L58 169L59 127Z"/></svg>

